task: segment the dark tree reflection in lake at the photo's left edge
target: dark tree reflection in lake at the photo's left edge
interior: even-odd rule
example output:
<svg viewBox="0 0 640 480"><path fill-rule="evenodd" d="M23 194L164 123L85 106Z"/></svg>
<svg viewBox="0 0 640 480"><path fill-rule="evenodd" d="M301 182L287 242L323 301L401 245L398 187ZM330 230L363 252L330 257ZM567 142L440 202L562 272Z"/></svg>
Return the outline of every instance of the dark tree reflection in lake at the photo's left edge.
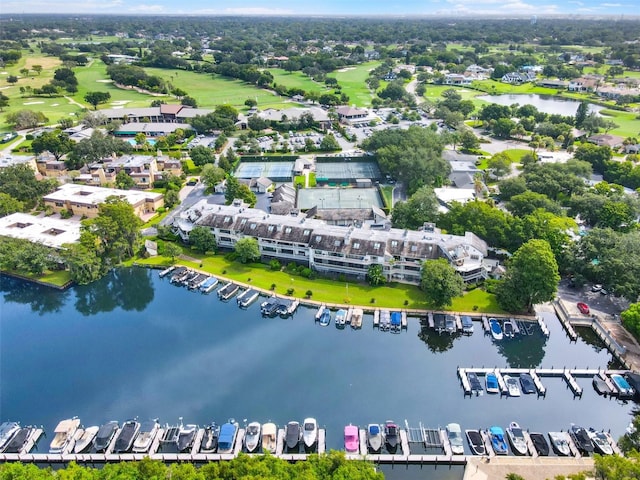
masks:
<svg viewBox="0 0 640 480"><path fill-rule="evenodd" d="M38 315L59 312L69 298L69 291L61 291L37 283L25 282L0 275L0 292L7 303L28 304Z"/></svg>

